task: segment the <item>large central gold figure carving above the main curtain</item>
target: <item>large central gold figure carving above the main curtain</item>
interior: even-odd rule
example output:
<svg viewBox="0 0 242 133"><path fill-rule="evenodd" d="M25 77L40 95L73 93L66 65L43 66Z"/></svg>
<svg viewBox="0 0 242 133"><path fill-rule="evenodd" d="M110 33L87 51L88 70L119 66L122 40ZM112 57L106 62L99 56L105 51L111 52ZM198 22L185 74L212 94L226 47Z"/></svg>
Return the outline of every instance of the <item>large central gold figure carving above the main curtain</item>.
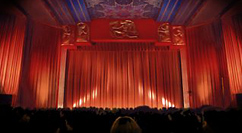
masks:
<svg viewBox="0 0 242 133"><path fill-rule="evenodd" d="M115 38L138 38L135 24L131 20L110 22L111 34Z"/></svg>

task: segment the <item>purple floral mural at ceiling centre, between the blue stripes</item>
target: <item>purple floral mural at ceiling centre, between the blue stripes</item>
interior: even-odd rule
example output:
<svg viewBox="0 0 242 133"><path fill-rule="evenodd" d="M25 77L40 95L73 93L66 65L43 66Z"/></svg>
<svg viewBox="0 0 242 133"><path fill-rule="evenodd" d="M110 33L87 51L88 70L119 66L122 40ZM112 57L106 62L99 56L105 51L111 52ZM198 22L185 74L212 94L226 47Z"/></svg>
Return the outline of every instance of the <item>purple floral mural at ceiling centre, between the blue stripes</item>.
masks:
<svg viewBox="0 0 242 133"><path fill-rule="evenodd" d="M163 0L85 0L92 19L156 18Z"/></svg>

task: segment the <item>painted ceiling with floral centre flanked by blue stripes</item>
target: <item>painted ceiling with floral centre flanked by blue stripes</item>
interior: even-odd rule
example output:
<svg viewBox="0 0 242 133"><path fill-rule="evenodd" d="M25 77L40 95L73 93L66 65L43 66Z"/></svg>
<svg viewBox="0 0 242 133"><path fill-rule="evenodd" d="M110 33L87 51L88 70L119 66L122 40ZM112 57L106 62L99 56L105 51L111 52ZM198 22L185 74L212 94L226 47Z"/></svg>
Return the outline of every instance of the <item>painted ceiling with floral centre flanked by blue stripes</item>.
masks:
<svg viewBox="0 0 242 133"><path fill-rule="evenodd" d="M206 0L42 0L61 24L93 19L153 19L187 25Z"/></svg>

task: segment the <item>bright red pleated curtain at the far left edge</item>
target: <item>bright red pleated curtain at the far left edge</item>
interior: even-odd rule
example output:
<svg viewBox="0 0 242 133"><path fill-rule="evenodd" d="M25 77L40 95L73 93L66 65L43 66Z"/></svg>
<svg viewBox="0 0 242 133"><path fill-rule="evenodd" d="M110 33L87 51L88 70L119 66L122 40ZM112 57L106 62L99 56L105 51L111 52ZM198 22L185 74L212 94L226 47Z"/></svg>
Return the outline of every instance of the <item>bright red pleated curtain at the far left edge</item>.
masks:
<svg viewBox="0 0 242 133"><path fill-rule="evenodd" d="M0 14L0 94L12 94L15 104L24 46L26 18Z"/></svg>

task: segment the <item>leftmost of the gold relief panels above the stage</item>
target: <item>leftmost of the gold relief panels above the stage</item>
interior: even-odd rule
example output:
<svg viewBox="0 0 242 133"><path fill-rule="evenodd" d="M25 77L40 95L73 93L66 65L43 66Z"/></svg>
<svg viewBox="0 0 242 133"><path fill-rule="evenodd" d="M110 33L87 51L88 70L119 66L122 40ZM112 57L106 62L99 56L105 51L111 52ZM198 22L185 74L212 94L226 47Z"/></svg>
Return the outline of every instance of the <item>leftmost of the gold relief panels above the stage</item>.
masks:
<svg viewBox="0 0 242 133"><path fill-rule="evenodd" d="M74 31L69 25L62 26L62 45L73 45Z"/></svg>

